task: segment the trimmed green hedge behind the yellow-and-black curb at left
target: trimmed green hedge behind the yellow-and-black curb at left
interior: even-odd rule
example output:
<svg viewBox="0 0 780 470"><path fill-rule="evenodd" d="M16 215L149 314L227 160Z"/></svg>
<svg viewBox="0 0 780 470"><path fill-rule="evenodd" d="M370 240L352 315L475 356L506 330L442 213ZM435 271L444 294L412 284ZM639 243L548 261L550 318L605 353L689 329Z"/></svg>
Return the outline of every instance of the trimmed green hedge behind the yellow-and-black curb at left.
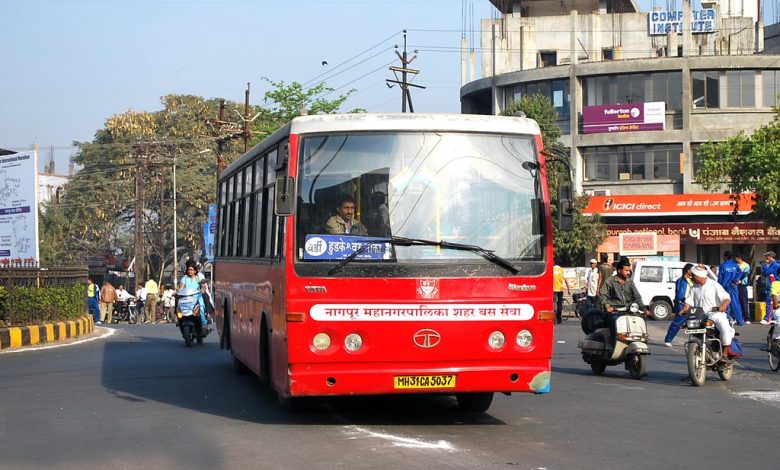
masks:
<svg viewBox="0 0 780 470"><path fill-rule="evenodd" d="M0 323L7 326L73 320L86 314L84 286L0 287Z"/></svg>

